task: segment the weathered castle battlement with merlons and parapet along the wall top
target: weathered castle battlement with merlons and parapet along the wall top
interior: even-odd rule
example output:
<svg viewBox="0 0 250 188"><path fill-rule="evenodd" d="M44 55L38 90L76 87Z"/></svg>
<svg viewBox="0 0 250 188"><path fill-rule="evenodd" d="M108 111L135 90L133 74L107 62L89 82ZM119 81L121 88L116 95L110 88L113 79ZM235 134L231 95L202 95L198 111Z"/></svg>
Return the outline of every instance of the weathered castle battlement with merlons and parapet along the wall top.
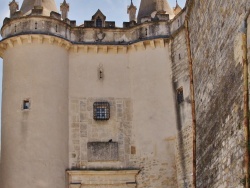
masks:
<svg viewBox="0 0 250 188"><path fill-rule="evenodd" d="M40 6L34 7L28 15L22 11L12 13L10 18L5 18L1 28L3 40L12 36L39 34L59 37L72 44L131 45L145 40L171 38L183 26L185 18L185 11L179 12L174 19L170 19L166 12L156 12L153 17L142 17L139 23L134 20L124 22L123 28L119 28L115 22L106 21L106 16L98 10L90 21L76 26L75 21L67 17L63 19L66 5L69 6L65 2L61 5L62 14L52 11L50 16L44 15ZM128 10L133 10L133 7L131 5ZM98 19L100 25L97 25Z"/></svg>

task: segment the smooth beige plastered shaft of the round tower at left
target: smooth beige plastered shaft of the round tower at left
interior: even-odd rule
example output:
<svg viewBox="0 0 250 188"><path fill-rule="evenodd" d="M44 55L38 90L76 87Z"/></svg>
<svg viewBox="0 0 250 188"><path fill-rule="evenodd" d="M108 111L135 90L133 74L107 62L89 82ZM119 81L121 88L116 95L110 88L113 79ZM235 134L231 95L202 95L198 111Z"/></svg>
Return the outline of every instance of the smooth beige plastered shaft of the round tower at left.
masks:
<svg viewBox="0 0 250 188"><path fill-rule="evenodd" d="M3 60L1 187L65 187L68 53L33 41L9 47Z"/></svg>

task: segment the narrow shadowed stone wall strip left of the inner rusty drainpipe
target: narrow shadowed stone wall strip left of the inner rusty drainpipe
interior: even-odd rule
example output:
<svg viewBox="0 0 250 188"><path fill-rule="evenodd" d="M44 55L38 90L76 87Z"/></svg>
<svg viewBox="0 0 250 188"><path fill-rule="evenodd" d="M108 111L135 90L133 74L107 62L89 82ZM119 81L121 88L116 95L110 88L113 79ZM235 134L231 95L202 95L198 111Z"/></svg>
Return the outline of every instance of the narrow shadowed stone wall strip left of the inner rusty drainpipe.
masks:
<svg viewBox="0 0 250 188"><path fill-rule="evenodd" d="M178 18L177 18L178 19ZM182 25L183 26L183 25ZM185 29L182 27L171 42L172 79L173 88L183 89L183 102L176 102L177 113L177 141L176 141L176 168L178 187L192 185L192 116L190 103L189 64Z"/></svg>

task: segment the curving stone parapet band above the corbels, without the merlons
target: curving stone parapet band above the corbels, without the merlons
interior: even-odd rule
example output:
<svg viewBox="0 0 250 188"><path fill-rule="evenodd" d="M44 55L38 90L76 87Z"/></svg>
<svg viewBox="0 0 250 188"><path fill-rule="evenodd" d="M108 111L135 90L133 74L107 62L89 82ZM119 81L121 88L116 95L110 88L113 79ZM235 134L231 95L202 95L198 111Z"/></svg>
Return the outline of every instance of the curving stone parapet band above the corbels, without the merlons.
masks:
<svg viewBox="0 0 250 188"><path fill-rule="evenodd" d="M178 20L150 21L128 28L75 27L62 20L45 16L9 19L1 29L3 39L18 35L51 35L74 44L130 45L144 40L171 37L183 24L183 11Z"/></svg>

